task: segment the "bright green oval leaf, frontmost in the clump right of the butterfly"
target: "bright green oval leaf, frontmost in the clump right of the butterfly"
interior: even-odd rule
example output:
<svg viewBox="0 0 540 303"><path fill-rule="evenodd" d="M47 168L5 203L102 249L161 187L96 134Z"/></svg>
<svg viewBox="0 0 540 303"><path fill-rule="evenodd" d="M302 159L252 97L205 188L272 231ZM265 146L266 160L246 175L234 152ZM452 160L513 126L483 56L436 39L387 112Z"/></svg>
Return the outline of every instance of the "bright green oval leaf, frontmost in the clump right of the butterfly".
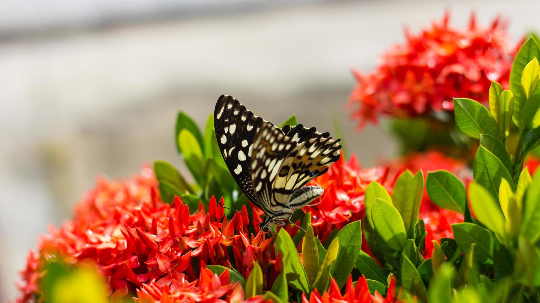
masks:
<svg viewBox="0 0 540 303"><path fill-rule="evenodd" d="M390 248L402 251L407 237L400 213L388 202L376 198L372 209L375 231Z"/></svg>

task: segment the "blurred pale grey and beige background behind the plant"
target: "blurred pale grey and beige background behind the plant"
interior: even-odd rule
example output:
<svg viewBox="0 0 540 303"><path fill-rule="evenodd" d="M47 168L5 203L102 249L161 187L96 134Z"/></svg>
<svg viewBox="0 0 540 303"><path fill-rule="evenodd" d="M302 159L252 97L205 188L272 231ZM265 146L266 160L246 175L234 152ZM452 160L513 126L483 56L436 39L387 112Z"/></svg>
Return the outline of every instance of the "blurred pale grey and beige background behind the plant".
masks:
<svg viewBox="0 0 540 303"><path fill-rule="evenodd" d="M363 167L392 155L384 124L358 133L349 120L350 68L371 71L404 25L417 32L445 9L456 26L500 14L512 41L540 28L537 0L0 1L0 301L98 175L156 159L185 169L178 110L202 126L228 94L278 124L339 121Z"/></svg>

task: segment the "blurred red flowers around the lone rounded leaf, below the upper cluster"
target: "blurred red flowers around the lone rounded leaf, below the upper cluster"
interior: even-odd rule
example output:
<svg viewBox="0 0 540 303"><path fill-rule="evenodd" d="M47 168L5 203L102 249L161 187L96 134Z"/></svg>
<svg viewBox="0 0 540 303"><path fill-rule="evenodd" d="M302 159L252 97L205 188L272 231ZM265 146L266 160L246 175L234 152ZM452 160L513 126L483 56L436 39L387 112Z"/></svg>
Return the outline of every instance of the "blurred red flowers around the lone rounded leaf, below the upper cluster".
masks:
<svg viewBox="0 0 540 303"><path fill-rule="evenodd" d="M411 153L408 156L393 160L388 165L392 167L390 175L394 176L392 187L397 177L405 170L413 173L421 170L424 175L424 181L428 172L437 170L447 170L455 174L464 184L468 184L469 181L473 180L473 174L463 160L450 158L439 151ZM426 258L431 257L431 252L433 251L432 240L440 241L444 237L453 238L454 234L451 224L463 222L462 214L440 208L431 202L425 187L419 217L424 220L424 226L428 233L425 242L426 248L424 249L424 256Z"/></svg>

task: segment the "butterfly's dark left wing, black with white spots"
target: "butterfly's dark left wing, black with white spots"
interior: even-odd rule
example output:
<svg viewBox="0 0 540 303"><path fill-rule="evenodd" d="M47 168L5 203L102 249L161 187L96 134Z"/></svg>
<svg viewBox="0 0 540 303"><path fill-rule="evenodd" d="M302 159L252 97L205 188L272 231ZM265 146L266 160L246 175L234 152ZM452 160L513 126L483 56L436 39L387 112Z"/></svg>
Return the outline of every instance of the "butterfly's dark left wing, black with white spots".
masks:
<svg viewBox="0 0 540 303"><path fill-rule="evenodd" d="M242 192L257 206L250 163L254 138L264 122L231 96L222 95L215 104L214 129L221 155Z"/></svg>

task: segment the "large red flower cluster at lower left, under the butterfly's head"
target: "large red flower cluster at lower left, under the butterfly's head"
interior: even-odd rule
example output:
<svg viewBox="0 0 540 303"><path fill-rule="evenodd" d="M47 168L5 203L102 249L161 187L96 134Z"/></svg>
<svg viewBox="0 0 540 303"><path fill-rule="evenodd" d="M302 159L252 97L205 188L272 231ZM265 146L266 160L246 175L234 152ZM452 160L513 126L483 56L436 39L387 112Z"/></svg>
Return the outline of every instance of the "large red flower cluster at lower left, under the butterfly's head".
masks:
<svg viewBox="0 0 540 303"><path fill-rule="evenodd" d="M21 272L20 301L39 300L46 260L56 257L72 264L93 260L110 281L113 299L137 294L140 302L149 298L200 301L227 294L243 300L228 277L205 269L206 265L232 267L231 262L247 277L257 261L265 269L265 284L271 285L268 278L275 279L279 267L269 266L272 258L275 263L269 249L272 239L261 232L250 235L248 217L237 213L228 221L213 197L208 213L200 204L190 214L178 198L164 204L150 168L144 168L143 175L116 182L99 179L76 206L72 221L59 229L49 228Z"/></svg>

